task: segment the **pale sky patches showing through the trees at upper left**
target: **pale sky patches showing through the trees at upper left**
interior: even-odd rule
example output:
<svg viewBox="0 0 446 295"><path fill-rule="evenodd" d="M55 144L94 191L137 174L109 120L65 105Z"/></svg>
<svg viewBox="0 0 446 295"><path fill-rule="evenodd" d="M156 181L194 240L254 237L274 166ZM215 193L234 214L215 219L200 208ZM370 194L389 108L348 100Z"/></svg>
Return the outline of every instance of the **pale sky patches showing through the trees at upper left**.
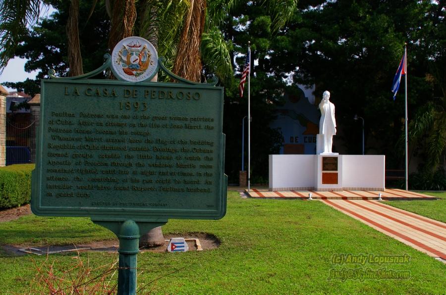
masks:
<svg viewBox="0 0 446 295"><path fill-rule="evenodd" d="M42 7L40 17L47 17L53 13L55 9L50 7ZM8 65L4 68L3 73L0 75L0 84L3 82L21 82L25 81L26 78L35 79L38 71L33 71L31 73L25 72L25 62L27 59L23 58L13 58L10 59ZM15 89L3 86L7 91L15 91Z"/></svg>

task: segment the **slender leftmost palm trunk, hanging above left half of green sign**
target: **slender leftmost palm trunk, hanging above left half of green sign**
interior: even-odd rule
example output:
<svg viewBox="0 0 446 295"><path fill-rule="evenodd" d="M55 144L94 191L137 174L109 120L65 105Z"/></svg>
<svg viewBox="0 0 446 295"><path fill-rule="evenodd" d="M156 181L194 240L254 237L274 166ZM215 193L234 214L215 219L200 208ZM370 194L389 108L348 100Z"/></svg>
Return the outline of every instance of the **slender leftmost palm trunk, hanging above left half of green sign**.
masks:
<svg viewBox="0 0 446 295"><path fill-rule="evenodd" d="M68 38L68 66L70 77L82 75L82 56L79 43L79 0L71 0L68 21L66 23L66 36Z"/></svg>

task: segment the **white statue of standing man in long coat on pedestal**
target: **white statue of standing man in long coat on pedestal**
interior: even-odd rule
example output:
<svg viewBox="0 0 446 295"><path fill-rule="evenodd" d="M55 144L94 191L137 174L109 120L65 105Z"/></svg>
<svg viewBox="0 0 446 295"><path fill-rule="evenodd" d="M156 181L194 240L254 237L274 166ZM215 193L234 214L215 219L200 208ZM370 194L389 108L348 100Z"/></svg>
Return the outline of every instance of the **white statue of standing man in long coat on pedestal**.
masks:
<svg viewBox="0 0 446 295"><path fill-rule="evenodd" d="M318 143L321 153L332 153L333 136L336 134L335 105L330 102L330 92L324 91L319 103L321 120L319 121L319 137L323 143Z"/></svg>

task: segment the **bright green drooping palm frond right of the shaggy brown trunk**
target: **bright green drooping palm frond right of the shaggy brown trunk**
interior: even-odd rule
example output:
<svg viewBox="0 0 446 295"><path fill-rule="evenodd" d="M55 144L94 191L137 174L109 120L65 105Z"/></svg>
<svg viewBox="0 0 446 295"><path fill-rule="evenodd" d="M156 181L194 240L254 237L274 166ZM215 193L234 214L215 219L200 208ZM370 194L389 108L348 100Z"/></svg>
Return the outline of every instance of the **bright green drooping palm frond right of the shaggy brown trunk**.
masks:
<svg viewBox="0 0 446 295"><path fill-rule="evenodd" d="M224 81L232 75L229 46L224 41L222 32L213 27L203 33L201 38L201 58L206 67Z"/></svg>

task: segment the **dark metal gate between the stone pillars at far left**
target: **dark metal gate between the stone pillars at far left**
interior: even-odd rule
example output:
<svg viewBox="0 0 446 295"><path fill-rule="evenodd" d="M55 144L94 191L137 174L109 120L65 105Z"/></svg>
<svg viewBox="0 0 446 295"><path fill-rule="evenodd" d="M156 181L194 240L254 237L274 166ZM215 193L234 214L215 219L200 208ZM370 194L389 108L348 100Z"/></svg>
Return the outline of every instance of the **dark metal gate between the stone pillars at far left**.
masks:
<svg viewBox="0 0 446 295"><path fill-rule="evenodd" d="M31 162L34 121L6 119L6 165Z"/></svg>

